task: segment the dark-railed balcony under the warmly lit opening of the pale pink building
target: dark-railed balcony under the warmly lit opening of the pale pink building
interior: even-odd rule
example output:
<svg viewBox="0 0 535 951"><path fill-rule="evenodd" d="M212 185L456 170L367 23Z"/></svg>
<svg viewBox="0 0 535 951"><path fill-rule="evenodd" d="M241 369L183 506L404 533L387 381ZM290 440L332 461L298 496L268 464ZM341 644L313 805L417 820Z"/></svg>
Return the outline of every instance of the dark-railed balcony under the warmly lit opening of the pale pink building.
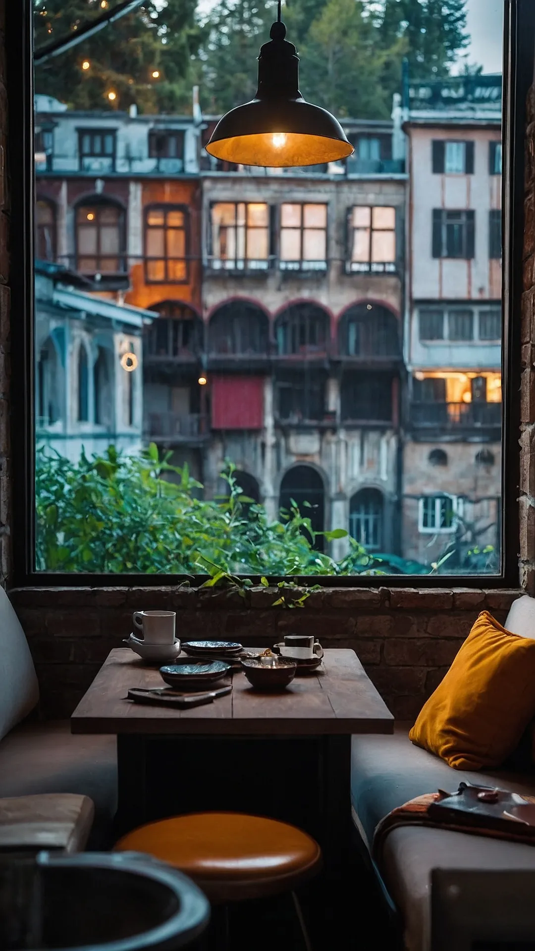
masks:
<svg viewBox="0 0 535 951"><path fill-rule="evenodd" d="M452 437L500 438L502 403L412 403L410 421L415 430L440 431Z"/></svg>

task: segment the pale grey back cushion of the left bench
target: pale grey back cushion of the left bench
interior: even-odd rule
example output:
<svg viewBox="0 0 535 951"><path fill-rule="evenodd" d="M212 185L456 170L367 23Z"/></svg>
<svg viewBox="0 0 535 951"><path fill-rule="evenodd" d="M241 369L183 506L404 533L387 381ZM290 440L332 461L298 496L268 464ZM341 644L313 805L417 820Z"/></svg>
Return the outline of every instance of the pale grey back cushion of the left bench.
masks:
<svg viewBox="0 0 535 951"><path fill-rule="evenodd" d="M28 641L8 595L0 588L0 740L38 700Z"/></svg>

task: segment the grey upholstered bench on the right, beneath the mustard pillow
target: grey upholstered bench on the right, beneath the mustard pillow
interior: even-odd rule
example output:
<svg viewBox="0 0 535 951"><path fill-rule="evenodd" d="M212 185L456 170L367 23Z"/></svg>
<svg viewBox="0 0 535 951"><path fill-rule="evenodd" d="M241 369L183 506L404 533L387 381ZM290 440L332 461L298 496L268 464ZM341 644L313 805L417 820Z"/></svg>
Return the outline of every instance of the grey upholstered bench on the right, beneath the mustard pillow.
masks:
<svg viewBox="0 0 535 951"><path fill-rule="evenodd" d="M515 601L508 631L535 637L535 599ZM408 739L412 724L398 724L392 736L352 738L353 820L370 847L376 825L391 809L439 787L454 792L462 780L535 795L533 775L502 770L452 769ZM433 868L535 870L535 846L485 839L461 832L412 826L386 837L379 874L404 922L408 951L430 946L429 891Z"/></svg>

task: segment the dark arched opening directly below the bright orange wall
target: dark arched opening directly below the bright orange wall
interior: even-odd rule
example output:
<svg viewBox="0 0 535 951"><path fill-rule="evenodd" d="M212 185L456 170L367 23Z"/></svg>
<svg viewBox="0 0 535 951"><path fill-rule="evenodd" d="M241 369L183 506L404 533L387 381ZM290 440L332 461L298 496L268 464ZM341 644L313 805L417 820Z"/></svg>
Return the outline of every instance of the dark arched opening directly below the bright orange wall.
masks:
<svg viewBox="0 0 535 951"><path fill-rule="evenodd" d="M203 348L203 321L186 303L162 301L150 310L160 317L145 330L148 357L198 357Z"/></svg>

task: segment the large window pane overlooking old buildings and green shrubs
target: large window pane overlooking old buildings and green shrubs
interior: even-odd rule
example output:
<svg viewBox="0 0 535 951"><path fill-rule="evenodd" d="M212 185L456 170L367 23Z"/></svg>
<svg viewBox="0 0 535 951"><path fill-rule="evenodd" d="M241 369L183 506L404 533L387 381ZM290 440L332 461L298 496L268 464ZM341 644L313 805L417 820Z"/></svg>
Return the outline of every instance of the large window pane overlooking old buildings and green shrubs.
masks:
<svg viewBox="0 0 535 951"><path fill-rule="evenodd" d="M111 5L64 6L33 4L35 49L69 37L35 69L39 571L492 587L496 5L349 4L316 55L334 8L298 3L304 94L355 150L277 168L206 149L254 96L269 5L158 0L74 46Z"/></svg>

